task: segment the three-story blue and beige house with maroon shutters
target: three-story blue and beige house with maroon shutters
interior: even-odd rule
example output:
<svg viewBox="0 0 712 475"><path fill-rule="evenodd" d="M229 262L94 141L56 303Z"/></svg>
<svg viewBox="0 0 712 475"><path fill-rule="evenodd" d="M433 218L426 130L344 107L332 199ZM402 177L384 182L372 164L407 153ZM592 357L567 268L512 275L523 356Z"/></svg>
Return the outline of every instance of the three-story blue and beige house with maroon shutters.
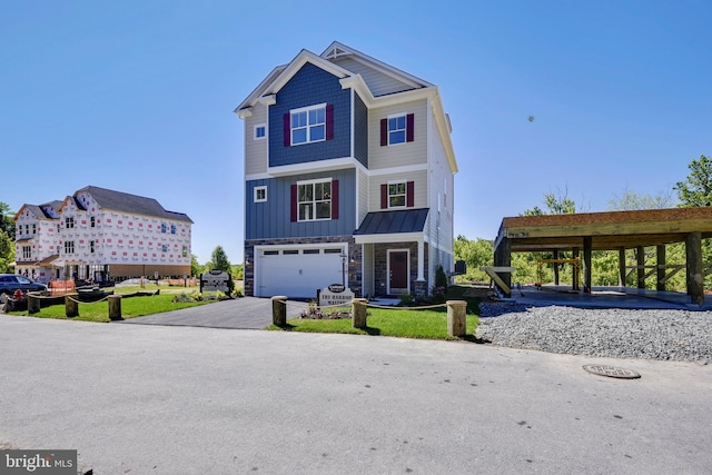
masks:
<svg viewBox="0 0 712 475"><path fill-rule="evenodd" d="M245 293L426 295L454 267L457 162L436 86L338 42L301 50L245 123Z"/></svg>

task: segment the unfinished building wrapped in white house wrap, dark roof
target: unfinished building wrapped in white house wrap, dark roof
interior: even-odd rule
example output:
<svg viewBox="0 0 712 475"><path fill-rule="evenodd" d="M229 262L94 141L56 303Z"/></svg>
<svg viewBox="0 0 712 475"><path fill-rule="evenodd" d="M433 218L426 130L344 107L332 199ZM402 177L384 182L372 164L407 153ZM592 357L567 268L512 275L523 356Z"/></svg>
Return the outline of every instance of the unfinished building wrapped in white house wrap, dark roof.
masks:
<svg viewBox="0 0 712 475"><path fill-rule="evenodd" d="M16 271L40 281L190 275L190 226L152 198L88 186L14 216Z"/></svg>

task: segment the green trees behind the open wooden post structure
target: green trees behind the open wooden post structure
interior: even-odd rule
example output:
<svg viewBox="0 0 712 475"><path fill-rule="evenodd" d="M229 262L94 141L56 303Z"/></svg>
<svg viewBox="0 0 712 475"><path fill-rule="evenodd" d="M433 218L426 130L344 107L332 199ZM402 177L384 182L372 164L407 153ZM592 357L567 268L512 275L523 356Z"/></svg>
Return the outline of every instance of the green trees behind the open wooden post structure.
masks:
<svg viewBox="0 0 712 475"><path fill-rule="evenodd" d="M639 194L634 190L625 189L620 197L614 197L607 202L607 211L630 211L642 209L661 208L694 208L712 206L712 159L702 155L700 159L692 160L688 165L689 175L683 181L678 181L671 190L659 195ZM674 195L676 195L676 200ZM558 190L544 195L543 208L534 206L522 211L520 216L542 216L582 212L576 202L568 197L568 190ZM627 249L625 259L627 263L636 263L636 249ZM645 248L646 259L655 259L655 248ZM514 253L512 254L512 267L516 271L512 275L512 283L533 284L542 279L543 284L554 280L553 265L542 267L542 275L537 276L538 259L551 259L552 253ZM571 258L571 253L560 253L560 259ZM666 264L684 265L685 248L683 243L675 243L666 246ZM712 239L703 239L702 258L704 263L712 263ZM492 266L494 263L494 241L490 239L475 238L467 239L459 235L455 239L455 259L464 260L467 264L467 274L458 276L458 281L490 281L490 277L479 270L479 267ZM558 266L560 283L562 285L572 283L572 269L570 264L556 264ZM594 286L617 286L619 285L619 253L617 251L593 251L591 256L592 285ZM637 286L637 274L629 273L625 286ZM654 288L652 281L646 286ZM705 287L712 285L712 277L705 278ZM670 290L685 291L685 273L679 271L670 280L666 288Z"/></svg>

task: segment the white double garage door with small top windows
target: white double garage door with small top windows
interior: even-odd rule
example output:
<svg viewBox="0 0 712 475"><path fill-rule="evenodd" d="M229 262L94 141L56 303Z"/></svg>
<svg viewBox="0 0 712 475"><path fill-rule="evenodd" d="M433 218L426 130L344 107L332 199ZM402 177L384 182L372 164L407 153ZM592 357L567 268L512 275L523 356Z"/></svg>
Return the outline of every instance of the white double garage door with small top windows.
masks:
<svg viewBox="0 0 712 475"><path fill-rule="evenodd" d="M343 279L343 247L257 249L255 295L316 298L316 290Z"/></svg>

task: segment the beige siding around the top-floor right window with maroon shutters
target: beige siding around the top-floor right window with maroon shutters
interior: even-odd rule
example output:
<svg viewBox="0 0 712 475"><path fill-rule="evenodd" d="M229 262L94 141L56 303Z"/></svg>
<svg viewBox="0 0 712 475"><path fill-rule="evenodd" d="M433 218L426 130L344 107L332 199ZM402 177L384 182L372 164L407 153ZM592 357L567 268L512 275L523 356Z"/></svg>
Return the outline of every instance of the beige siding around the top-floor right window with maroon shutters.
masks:
<svg viewBox="0 0 712 475"><path fill-rule="evenodd" d="M414 141L380 146L380 119L398 113L414 113ZM368 111L368 168L402 167L427 161L427 101L405 102Z"/></svg>

